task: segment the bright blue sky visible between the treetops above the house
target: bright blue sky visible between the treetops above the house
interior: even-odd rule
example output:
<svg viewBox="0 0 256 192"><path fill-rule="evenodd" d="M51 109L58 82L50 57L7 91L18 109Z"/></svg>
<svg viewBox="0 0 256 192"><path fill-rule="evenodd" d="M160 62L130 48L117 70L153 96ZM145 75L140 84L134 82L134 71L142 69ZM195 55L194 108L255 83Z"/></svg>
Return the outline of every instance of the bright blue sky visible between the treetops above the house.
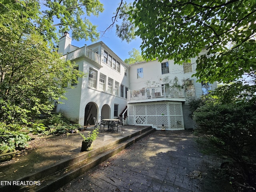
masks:
<svg viewBox="0 0 256 192"><path fill-rule="evenodd" d="M97 25L98 31L105 31L110 24L112 24L112 16L114 16L114 12L116 12L116 8L118 8L118 4L121 0L100 0L102 4L104 4L104 11L99 14L98 17L91 16L89 19L92 24ZM133 2L132 0L126 0L126 2ZM118 22L121 24L121 20ZM116 53L122 60L129 58L128 54L133 48L140 50L141 40L137 38L133 40L129 44L126 41L121 41L120 38L116 36L116 28L115 25L112 29L109 29L104 36L100 35L99 41L104 42L114 53ZM72 40L72 45L82 47L84 44L90 45L92 42L80 40L79 42ZM140 50L141 51L141 50Z"/></svg>

